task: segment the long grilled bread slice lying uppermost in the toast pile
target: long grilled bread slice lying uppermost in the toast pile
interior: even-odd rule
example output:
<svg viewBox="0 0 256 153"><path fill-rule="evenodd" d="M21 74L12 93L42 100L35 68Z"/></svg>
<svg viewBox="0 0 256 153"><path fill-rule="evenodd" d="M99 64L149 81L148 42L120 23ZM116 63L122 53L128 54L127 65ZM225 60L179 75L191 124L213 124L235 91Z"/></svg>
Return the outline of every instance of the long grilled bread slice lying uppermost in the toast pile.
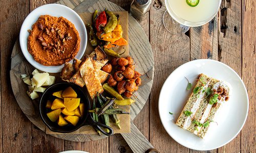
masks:
<svg viewBox="0 0 256 153"><path fill-rule="evenodd" d="M91 58L86 58L86 61L81 65L79 71L92 99L96 96L97 92L103 92L103 87L93 67Z"/></svg>

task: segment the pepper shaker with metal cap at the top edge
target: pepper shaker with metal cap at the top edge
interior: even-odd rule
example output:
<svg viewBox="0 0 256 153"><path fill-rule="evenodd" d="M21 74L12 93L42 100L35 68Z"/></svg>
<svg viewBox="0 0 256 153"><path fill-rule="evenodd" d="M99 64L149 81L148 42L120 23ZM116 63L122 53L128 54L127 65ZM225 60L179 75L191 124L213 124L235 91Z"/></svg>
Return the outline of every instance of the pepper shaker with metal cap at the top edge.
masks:
<svg viewBox="0 0 256 153"><path fill-rule="evenodd" d="M134 0L131 4L130 14L137 20L150 11L152 0Z"/></svg>

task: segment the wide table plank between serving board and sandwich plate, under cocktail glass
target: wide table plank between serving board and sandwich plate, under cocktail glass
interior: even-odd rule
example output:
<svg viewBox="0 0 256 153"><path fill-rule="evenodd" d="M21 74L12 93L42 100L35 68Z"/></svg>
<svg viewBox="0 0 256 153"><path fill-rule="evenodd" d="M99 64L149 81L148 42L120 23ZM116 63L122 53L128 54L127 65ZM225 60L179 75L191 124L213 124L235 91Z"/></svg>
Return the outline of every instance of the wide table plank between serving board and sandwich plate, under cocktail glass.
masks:
<svg viewBox="0 0 256 153"><path fill-rule="evenodd" d="M154 2L153 2L154 3ZM162 16L166 10L150 10L150 40L155 59L155 78L150 96L150 142L160 152L188 152L164 130L159 119L158 97L168 75L181 64L189 61L189 38L186 35L171 35L164 29Z"/></svg>

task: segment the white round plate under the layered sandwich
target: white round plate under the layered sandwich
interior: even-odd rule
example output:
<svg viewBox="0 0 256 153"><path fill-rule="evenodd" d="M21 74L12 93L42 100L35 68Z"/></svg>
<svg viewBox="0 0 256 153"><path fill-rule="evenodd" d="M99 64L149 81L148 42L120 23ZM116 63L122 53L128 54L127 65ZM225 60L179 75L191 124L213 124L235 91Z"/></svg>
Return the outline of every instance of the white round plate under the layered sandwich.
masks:
<svg viewBox="0 0 256 153"><path fill-rule="evenodd" d="M185 77L194 87L200 73L231 85L229 100L215 116L218 125L211 122L204 139L175 124L193 89L186 90ZM227 144L241 131L248 114L249 99L243 81L233 69L219 61L202 59L187 62L169 75L161 89L158 105L164 129L175 141L191 149L211 150Z"/></svg>

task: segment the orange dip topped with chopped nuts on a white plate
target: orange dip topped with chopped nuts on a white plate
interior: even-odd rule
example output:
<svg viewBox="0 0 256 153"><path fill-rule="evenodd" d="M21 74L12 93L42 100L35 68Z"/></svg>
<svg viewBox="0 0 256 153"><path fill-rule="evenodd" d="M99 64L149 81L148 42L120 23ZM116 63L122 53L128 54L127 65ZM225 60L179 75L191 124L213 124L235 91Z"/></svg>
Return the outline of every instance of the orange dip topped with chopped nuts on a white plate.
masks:
<svg viewBox="0 0 256 153"><path fill-rule="evenodd" d="M41 15L29 32L28 51L42 65L62 65L79 51L79 33L64 17Z"/></svg>

